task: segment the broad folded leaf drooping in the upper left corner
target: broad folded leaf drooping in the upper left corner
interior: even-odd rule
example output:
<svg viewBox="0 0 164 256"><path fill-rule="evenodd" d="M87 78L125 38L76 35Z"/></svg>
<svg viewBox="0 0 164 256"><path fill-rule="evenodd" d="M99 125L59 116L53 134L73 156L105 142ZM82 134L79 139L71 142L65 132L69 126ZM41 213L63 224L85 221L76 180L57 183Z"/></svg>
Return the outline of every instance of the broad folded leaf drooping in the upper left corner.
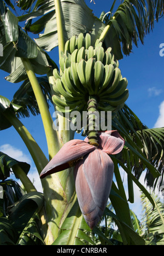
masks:
<svg viewBox="0 0 164 256"><path fill-rule="evenodd" d="M6 79L11 83L18 83L27 79L27 74L21 58L30 59L34 72L42 75L48 73L52 66L50 57L39 49L34 40L19 26L17 17L9 11L1 1L0 43L3 45L3 56L0 68L10 73ZM14 21L15 22L14 22ZM16 32L17 31L17 32ZM57 67L54 63L54 66Z"/></svg>

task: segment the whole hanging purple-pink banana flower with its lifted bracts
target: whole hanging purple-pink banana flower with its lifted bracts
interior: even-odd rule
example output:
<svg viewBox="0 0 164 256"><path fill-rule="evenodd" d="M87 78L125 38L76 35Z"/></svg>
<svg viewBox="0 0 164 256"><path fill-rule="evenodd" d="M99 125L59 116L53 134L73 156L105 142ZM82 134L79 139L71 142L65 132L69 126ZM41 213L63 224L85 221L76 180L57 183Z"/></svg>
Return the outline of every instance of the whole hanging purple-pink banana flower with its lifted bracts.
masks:
<svg viewBox="0 0 164 256"><path fill-rule="evenodd" d="M125 141L118 131L98 133L98 147L84 141L72 139L52 158L40 178L74 167L75 189L80 210L91 229L101 218L112 187L114 164L109 155L118 154Z"/></svg>

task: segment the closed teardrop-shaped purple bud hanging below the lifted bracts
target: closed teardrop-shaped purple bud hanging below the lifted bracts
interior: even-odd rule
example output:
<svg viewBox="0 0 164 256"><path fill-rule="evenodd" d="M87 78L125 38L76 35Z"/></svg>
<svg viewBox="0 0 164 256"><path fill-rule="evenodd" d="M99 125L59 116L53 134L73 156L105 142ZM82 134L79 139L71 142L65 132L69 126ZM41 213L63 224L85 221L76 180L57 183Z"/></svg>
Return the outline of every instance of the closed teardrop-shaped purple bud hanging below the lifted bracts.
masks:
<svg viewBox="0 0 164 256"><path fill-rule="evenodd" d="M114 164L102 150L95 149L74 169L78 202L86 223L93 229L106 208L113 181Z"/></svg>

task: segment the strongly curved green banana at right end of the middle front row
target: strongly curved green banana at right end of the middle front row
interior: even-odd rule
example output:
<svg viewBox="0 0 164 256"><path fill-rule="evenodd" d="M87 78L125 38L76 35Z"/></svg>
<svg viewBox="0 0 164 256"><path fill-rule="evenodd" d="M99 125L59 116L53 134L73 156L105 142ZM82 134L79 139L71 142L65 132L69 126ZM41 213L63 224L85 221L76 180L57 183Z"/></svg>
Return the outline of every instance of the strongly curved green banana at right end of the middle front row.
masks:
<svg viewBox="0 0 164 256"><path fill-rule="evenodd" d="M119 81L120 81L120 77L121 77L121 71L119 68L115 68L114 69L114 80L113 80L113 83L109 83L109 85L106 87L106 90L104 90L101 94L99 94L100 96L103 96L103 95L107 95L109 94L110 92L114 91L116 89L116 87L118 86L119 84Z"/></svg>

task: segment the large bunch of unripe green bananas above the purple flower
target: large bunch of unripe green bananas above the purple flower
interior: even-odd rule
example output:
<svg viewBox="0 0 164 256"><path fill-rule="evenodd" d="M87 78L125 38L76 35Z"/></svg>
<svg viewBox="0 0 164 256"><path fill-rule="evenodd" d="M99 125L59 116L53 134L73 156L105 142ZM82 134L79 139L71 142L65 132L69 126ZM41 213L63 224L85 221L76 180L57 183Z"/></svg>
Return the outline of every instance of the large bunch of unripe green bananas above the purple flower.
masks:
<svg viewBox="0 0 164 256"><path fill-rule="evenodd" d="M65 44L60 58L61 75L54 69L56 84L52 100L65 112L87 109L89 96L97 96L98 110L117 112L128 98L127 79L122 78L112 48L104 51L102 42L91 45L91 36L80 33Z"/></svg>

